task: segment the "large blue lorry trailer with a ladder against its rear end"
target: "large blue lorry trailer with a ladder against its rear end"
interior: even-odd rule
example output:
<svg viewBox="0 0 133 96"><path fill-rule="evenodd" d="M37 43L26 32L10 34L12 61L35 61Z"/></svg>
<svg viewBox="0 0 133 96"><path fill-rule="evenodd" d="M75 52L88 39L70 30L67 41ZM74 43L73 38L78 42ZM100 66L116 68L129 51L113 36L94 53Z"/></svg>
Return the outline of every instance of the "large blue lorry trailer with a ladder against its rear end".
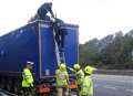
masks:
<svg viewBox="0 0 133 96"><path fill-rule="evenodd" d="M79 26L64 23L64 58L66 66L79 63ZM37 20L0 38L0 87L18 92L27 61L34 62L37 85L54 86L58 68L53 25ZM71 73L70 73L71 74ZM42 89L43 93L44 89Z"/></svg>

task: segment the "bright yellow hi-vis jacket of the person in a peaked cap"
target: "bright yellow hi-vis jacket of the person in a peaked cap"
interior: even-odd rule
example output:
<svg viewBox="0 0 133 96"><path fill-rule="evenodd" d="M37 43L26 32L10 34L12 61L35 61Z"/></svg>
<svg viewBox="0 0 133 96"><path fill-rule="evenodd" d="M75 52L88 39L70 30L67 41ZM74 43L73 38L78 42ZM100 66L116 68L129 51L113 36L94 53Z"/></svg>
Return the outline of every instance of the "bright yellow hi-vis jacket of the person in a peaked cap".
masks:
<svg viewBox="0 0 133 96"><path fill-rule="evenodd" d="M23 70L22 77L22 87L33 87L33 76L29 68Z"/></svg>

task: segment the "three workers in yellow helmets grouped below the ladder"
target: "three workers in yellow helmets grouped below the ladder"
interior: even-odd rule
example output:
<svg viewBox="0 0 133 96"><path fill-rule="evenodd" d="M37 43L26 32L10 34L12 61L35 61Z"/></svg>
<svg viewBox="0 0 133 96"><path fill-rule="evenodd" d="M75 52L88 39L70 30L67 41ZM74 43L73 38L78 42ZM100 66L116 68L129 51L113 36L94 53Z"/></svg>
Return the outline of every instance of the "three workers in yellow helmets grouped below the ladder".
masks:
<svg viewBox="0 0 133 96"><path fill-rule="evenodd" d="M59 65L55 71L58 96L69 96L69 74L68 71L74 73L78 84L78 96L93 96L93 82L91 75L95 71L92 66L81 68L79 64L73 67L66 67L64 63Z"/></svg>

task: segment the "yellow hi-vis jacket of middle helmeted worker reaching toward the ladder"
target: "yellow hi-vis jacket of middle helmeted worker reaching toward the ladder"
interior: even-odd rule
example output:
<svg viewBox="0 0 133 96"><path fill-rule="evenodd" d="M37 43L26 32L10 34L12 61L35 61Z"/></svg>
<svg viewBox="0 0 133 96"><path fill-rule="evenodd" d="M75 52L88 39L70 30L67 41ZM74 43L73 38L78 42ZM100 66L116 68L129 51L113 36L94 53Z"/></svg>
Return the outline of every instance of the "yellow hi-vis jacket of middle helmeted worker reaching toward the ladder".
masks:
<svg viewBox="0 0 133 96"><path fill-rule="evenodd" d="M78 72L73 68L69 68L70 71L74 72L75 77L76 77L76 83L78 85L81 85L83 78L84 78L84 73L82 70L79 70Z"/></svg>

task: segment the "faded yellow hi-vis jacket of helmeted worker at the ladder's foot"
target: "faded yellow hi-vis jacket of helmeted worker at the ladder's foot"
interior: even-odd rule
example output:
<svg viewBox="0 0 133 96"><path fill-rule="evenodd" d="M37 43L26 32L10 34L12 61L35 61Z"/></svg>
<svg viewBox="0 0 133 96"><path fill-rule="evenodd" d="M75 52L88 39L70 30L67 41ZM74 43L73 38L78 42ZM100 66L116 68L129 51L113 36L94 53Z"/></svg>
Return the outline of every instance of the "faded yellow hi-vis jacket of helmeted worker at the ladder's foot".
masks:
<svg viewBox="0 0 133 96"><path fill-rule="evenodd" d="M69 82L69 75L66 71L61 72L60 70L55 71L57 86L66 86Z"/></svg>

